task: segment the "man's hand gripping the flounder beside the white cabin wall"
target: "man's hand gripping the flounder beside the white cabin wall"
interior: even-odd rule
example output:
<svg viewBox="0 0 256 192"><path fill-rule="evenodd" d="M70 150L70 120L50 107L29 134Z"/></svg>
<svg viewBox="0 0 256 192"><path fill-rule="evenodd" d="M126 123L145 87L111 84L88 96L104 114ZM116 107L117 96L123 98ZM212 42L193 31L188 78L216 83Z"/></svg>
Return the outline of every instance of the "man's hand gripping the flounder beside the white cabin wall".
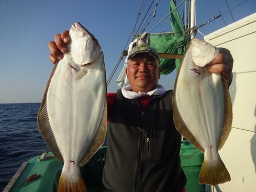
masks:
<svg viewBox="0 0 256 192"><path fill-rule="evenodd" d="M228 49L219 48L217 57L208 64L208 71L221 74L227 81L228 86L232 82L233 58Z"/></svg>

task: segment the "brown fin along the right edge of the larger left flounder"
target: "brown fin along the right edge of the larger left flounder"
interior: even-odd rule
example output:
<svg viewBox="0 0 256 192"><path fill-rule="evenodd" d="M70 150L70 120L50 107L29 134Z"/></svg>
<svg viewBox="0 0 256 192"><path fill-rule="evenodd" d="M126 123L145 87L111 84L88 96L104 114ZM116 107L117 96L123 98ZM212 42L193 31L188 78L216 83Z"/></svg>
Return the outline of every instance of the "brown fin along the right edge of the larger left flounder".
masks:
<svg viewBox="0 0 256 192"><path fill-rule="evenodd" d="M107 100L105 99L105 107L102 113L101 122L99 123L99 128L95 134L94 139L92 140L91 145L89 146L83 159L79 163L80 166L83 166L84 164L86 164L93 157L93 155L98 151L98 149L101 148L102 144L105 141L106 132L107 132L107 110L106 109L107 109Z"/></svg>

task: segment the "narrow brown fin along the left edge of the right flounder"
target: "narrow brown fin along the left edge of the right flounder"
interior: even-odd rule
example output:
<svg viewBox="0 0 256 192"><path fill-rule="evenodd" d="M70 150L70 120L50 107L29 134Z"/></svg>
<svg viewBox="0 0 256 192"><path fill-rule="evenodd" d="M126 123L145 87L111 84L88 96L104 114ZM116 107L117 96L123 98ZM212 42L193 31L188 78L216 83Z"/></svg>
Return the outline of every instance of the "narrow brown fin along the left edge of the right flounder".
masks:
<svg viewBox="0 0 256 192"><path fill-rule="evenodd" d="M176 82L175 82L175 86L176 86ZM176 92L175 92L175 90L176 89L174 88L173 96L172 96L173 121L174 121L175 127L186 139L188 139L193 145L195 145L195 147L198 150L204 152L204 149L197 142L197 140L195 139L194 135L187 128L185 122L183 121L183 119L181 117L180 111L179 111L179 109L177 107Z"/></svg>

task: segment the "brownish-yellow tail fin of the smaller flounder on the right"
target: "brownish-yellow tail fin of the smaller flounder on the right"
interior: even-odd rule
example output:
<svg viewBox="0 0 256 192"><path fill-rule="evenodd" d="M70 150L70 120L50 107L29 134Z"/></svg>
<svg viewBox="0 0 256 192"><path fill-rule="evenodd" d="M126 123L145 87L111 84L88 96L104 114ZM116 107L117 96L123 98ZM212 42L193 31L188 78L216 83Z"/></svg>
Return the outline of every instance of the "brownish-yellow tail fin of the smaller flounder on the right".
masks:
<svg viewBox="0 0 256 192"><path fill-rule="evenodd" d="M199 174L200 184L218 185L231 180L228 170L220 159L219 154L215 160L207 160L206 154L204 156L204 162Z"/></svg>

